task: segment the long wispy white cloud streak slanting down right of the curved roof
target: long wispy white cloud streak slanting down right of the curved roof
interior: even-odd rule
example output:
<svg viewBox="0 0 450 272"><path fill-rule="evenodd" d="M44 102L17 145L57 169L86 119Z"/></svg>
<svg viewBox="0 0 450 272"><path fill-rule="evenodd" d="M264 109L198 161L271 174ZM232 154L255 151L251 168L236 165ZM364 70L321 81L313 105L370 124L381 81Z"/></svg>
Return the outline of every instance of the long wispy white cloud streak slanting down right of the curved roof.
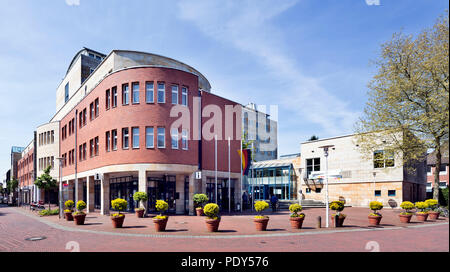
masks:
<svg viewBox="0 0 450 272"><path fill-rule="evenodd" d="M297 4L297 0L212 1L181 0L180 17L193 22L203 33L256 58L278 82L283 93L272 92L272 101L297 115L299 124L313 122L324 134L351 130L359 113L337 94L321 86L319 78L305 74L283 51L283 33L271 19ZM299 47L300 50L300 47ZM320 56L318 56L320 58ZM283 121L283 116L280 116Z"/></svg>

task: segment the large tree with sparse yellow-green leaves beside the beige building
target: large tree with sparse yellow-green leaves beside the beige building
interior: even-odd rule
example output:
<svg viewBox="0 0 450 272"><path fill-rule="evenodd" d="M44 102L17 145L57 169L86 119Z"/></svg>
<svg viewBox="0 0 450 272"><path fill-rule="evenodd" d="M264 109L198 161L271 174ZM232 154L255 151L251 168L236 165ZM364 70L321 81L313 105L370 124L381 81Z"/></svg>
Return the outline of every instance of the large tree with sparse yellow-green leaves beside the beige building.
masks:
<svg viewBox="0 0 450 272"><path fill-rule="evenodd" d="M388 139L389 148L401 151L403 163L435 150L436 169L449 127L449 26L448 11L433 28L416 38L402 33L381 46L375 61L378 73L369 83L369 101L356 124L357 142L367 152L375 146L373 135ZM366 132L376 131L377 134ZM401 132L401 133L399 133ZM371 139L372 135L372 139ZM402 135L402 137L398 137ZM439 196L439 171L434 176L433 198Z"/></svg>

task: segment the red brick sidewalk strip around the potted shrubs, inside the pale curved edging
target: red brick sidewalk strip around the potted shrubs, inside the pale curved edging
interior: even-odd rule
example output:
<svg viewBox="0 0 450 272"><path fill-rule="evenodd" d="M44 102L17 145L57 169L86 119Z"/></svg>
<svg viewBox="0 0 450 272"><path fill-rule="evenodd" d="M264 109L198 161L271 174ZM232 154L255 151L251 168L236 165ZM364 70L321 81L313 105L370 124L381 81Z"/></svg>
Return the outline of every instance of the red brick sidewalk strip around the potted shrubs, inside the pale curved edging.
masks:
<svg viewBox="0 0 450 272"><path fill-rule="evenodd" d="M33 216L39 216L37 212L30 211L29 209L16 208L25 213ZM306 217L303 222L302 229L292 229L289 222L289 212L280 211L276 213L265 212L265 215L270 217L270 221L267 227L267 231L260 232L255 230L253 223L253 216L255 214L249 214L246 212L243 215L235 214L228 215L222 214L219 232L210 233L206 229L204 222L205 217L198 216L185 216L185 215L172 215L169 216L167 228L165 232L156 232L153 226L151 217L137 218L135 214L125 213L125 222L123 228L114 229L112 227L109 216L100 215L98 212L89 213L86 216L85 225L77 226L73 221L69 222L65 219L59 219L58 216L46 216L41 219L50 223L58 224L59 226L67 229L75 230L89 230L96 232L107 232L115 234L148 234L148 235L165 235L165 236L245 236L245 235L289 235L299 234L302 232L326 232L326 231L346 231L346 230L370 230L370 229L390 229L398 227L412 227L423 226L427 224L448 223L448 218L439 218L437 221L419 222L413 216L411 223L400 223L398 214L402 210L386 209L382 210L383 219L381 224L377 227L370 226L368 222L369 209L367 208L355 208L350 207L344 210L347 215L344 227L334 228L331 220L329 220L329 228L325 228L325 209L323 208L310 208L304 209ZM322 217L322 228L317 226L317 217Z"/></svg>

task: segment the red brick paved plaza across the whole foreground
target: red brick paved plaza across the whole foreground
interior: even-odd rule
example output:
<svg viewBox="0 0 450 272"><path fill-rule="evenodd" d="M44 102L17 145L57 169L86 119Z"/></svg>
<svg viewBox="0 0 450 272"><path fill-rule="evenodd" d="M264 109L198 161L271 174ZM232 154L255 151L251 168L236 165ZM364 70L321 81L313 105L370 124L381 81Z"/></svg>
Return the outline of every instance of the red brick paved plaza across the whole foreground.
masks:
<svg viewBox="0 0 450 272"><path fill-rule="evenodd" d="M208 233L203 217L171 216L167 231L155 232L151 218L126 214L124 228L113 229L108 216L90 213L86 224L39 217L26 208L0 207L0 251L449 251L447 218L402 224L400 210L383 210L378 227L370 226L368 209L346 208L343 228L324 228L325 210L305 209L303 228L293 230L286 211L270 216L268 230L258 232L253 214L222 215L219 232ZM322 228L317 228L317 216ZM330 222L331 225L331 222ZM28 241L26 238L46 238Z"/></svg>

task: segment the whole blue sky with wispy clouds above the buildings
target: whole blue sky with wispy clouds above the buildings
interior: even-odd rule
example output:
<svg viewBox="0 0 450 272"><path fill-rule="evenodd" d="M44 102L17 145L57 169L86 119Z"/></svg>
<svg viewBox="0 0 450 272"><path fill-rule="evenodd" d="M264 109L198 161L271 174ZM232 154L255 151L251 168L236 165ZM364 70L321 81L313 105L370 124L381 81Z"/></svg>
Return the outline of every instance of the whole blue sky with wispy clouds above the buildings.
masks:
<svg viewBox="0 0 450 272"><path fill-rule="evenodd" d="M352 133L380 44L431 27L448 9L444 0L0 3L1 176L11 146L26 146L54 114L56 87L84 46L172 57L203 73L214 93L278 105L279 154L288 154L313 134Z"/></svg>

